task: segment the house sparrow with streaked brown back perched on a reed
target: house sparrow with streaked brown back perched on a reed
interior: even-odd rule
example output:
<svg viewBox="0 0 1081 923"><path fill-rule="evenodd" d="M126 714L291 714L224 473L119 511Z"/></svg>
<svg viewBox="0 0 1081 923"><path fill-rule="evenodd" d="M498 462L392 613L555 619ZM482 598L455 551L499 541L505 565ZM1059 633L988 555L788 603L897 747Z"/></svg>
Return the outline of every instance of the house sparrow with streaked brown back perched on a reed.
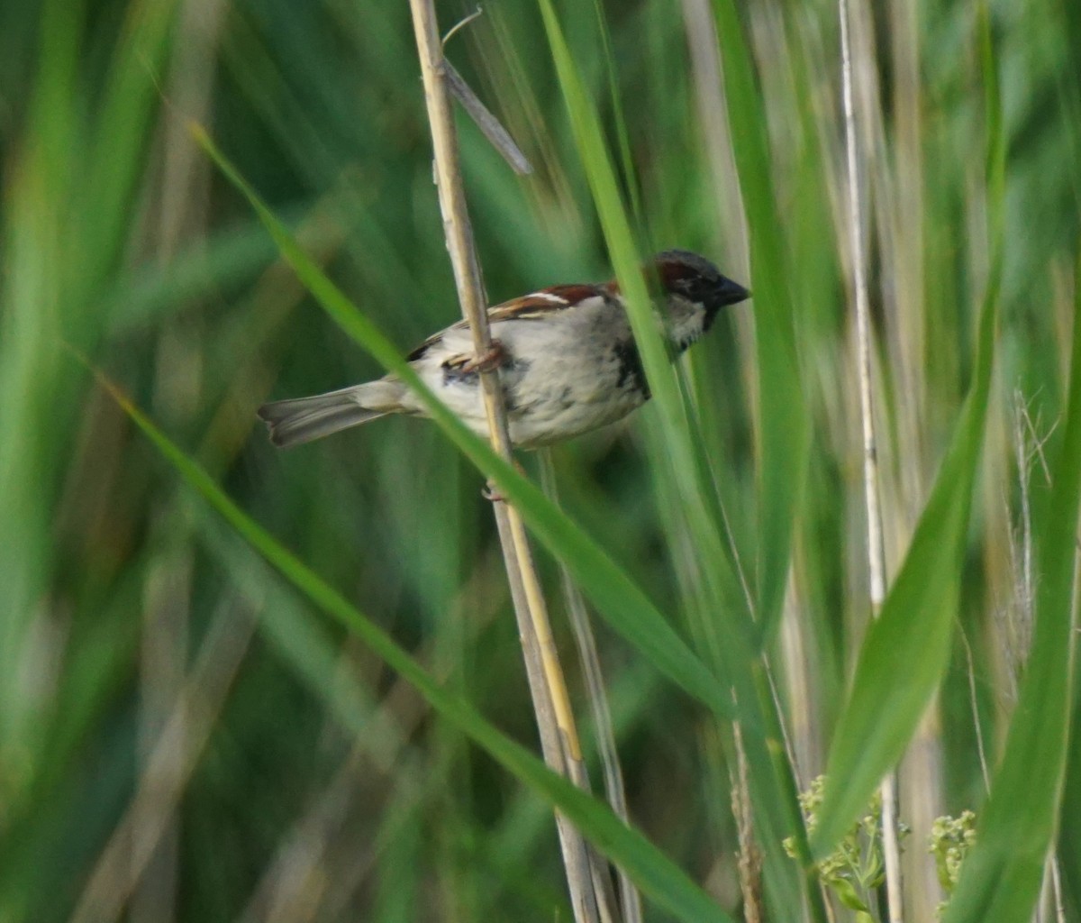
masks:
<svg viewBox="0 0 1081 923"><path fill-rule="evenodd" d="M709 330L717 313L749 296L708 260L666 250L652 261L664 295L673 355ZM510 439L536 448L614 423L650 398L619 287L552 286L490 307L492 355L478 361L465 321L429 337L409 355L421 379L481 435L488 421L480 368L497 365ZM425 416L392 374L315 397L265 404L259 417L276 446L296 446L387 413Z"/></svg>

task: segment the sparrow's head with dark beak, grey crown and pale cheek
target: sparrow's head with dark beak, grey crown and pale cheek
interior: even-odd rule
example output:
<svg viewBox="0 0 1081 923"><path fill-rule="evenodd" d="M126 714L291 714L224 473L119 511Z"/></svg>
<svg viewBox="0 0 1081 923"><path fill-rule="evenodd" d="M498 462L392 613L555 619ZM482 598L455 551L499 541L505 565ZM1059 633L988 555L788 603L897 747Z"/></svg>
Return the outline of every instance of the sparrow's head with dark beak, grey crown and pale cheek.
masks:
<svg viewBox="0 0 1081 923"><path fill-rule="evenodd" d="M679 350L685 350L709 330L722 307L750 298L747 289L690 250L666 250L654 256L653 263L668 295L670 335Z"/></svg>

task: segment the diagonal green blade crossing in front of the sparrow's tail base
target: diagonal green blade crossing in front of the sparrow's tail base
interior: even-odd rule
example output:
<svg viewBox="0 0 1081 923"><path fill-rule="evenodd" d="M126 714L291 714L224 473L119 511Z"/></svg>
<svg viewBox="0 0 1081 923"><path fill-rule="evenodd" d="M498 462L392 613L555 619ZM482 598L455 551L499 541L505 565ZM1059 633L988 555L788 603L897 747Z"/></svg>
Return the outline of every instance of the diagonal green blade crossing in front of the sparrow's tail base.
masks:
<svg viewBox="0 0 1081 923"><path fill-rule="evenodd" d="M221 170L251 202L286 262L326 313L376 361L415 391L446 436L481 472L495 479L499 490L518 506L540 542L566 562L599 614L676 685L718 714L731 717L733 709L725 689L626 572L556 509L539 488L503 461L491 446L469 431L425 387L401 357L398 347L360 314L307 256L281 222L214 147L205 132L198 127L192 131Z"/></svg>

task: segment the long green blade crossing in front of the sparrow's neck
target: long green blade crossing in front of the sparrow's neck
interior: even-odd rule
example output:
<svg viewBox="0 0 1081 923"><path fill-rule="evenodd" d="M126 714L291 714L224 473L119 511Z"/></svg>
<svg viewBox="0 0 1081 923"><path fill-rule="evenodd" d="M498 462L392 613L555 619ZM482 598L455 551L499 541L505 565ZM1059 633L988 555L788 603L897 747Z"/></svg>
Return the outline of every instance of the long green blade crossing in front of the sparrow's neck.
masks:
<svg viewBox="0 0 1081 923"><path fill-rule="evenodd" d="M805 846L803 826L797 808L791 766L785 753L780 718L760 658L759 630L739 592L732 558L721 533L720 517L712 515L715 511L709 499L713 495L708 462L702 457L702 440L695 438L692 414L688 412L679 377L670 362L650 305L630 222L619 196L596 107L586 92L550 0L540 0L540 12L579 157L620 290L628 301L635 340L663 421L663 438L651 439L650 446L653 467L657 472L660 505L672 511L670 518L677 520L670 525L670 531L685 527L694 556L699 562L700 585L689 593L693 598L688 605L695 641L699 649L708 651L708 662L734 690L736 708L747 731L745 743L751 767L757 823L766 856L766 874L778 902L797 906L801 901L797 870L783 855L779 844L786 836L792 835L798 844ZM667 479L671 480L670 485L665 483ZM787 543L787 538L785 541ZM783 570L787 569L787 550L785 562ZM806 854L805 848L803 852ZM804 867L809 868L810 862L804 862ZM810 883L809 878L804 881ZM811 884L803 892L816 919L825 919L816 886Z"/></svg>

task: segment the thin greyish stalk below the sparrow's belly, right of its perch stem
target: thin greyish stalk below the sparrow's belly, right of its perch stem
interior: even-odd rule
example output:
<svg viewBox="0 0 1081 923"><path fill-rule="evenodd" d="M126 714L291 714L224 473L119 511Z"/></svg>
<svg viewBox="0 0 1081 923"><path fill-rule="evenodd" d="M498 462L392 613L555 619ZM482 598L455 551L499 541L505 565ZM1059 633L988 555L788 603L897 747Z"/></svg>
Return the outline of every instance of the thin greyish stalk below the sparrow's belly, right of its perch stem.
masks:
<svg viewBox="0 0 1081 923"><path fill-rule="evenodd" d="M540 486L553 503L559 503L559 487L556 482L556 466L552 464L551 451L547 448L537 452L540 462ZM589 698L589 709L597 728L597 750L601 757L601 768L604 777L604 795L612 810L627 825L630 823L630 813L627 809L627 790L623 780L623 768L619 765L619 751L615 742L615 729L612 724L612 712L608 704L608 694L604 688L604 675L597 652L597 638L589 621L586 601L575 585L571 572L560 564L560 582L563 588L563 601L571 620L571 630L578 648L582 661L582 673L586 681L586 693ZM625 923L641 923L642 896L635 887L626 872L618 866L616 873L619 879L619 901Z"/></svg>

